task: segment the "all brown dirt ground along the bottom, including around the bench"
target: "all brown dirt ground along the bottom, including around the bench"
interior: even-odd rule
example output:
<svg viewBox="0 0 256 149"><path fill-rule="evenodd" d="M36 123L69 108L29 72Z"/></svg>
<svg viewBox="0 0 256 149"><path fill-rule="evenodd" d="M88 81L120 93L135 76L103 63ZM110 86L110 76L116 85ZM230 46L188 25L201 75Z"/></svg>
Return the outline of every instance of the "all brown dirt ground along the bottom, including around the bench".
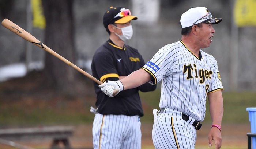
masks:
<svg viewBox="0 0 256 149"><path fill-rule="evenodd" d="M151 139L152 124L143 124L142 130L142 149L153 149L153 143ZM209 125L210 126L210 125ZM93 148L93 140L91 133L92 125L78 125L75 126L75 131L72 137L69 138L72 148L90 149ZM200 130L197 131L196 149L214 149L214 146L208 147L208 135L209 128L203 125ZM251 132L250 125L245 124L225 124L222 125L222 149L246 149L247 148L247 136L246 133ZM37 140L22 140L15 141L16 143L26 145L32 148L46 149L50 148L52 140L44 139ZM59 144L60 148L63 148L63 144ZM10 149L10 146L0 144L1 149Z"/></svg>

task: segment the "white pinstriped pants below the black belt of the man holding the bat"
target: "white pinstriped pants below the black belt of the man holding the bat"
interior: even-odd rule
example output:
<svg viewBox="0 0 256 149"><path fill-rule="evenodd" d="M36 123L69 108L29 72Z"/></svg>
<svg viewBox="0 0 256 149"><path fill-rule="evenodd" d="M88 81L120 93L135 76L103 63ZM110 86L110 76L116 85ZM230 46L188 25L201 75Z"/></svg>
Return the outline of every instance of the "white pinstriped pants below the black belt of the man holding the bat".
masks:
<svg viewBox="0 0 256 149"><path fill-rule="evenodd" d="M160 113L154 121L152 140L156 149L194 149L196 129L179 116Z"/></svg>

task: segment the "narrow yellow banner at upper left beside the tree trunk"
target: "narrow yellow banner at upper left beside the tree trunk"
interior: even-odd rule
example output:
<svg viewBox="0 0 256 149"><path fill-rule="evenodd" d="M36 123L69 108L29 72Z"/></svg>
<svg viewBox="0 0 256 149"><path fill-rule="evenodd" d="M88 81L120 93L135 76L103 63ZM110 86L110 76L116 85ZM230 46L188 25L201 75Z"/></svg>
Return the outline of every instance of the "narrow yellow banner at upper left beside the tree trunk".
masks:
<svg viewBox="0 0 256 149"><path fill-rule="evenodd" d="M44 29L46 26L44 11L41 0L31 0L33 13L33 26Z"/></svg>

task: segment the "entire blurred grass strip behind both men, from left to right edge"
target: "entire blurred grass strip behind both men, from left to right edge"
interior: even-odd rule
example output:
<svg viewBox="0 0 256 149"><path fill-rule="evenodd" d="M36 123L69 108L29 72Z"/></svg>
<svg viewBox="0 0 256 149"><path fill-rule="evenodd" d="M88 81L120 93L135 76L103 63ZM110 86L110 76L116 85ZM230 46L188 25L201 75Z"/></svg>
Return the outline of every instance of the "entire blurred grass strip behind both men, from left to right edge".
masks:
<svg viewBox="0 0 256 149"><path fill-rule="evenodd" d="M142 93L144 116L142 122L153 122L153 109L159 109L161 89ZM256 92L225 92L223 91L224 115L222 123L249 123L247 107L256 107ZM90 106L95 99L73 100L36 100L20 98L0 102L0 126L34 126L34 125L72 125L92 124L94 114ZM208 100L206 102L206 118L203 123L211 123Z"/></svg>

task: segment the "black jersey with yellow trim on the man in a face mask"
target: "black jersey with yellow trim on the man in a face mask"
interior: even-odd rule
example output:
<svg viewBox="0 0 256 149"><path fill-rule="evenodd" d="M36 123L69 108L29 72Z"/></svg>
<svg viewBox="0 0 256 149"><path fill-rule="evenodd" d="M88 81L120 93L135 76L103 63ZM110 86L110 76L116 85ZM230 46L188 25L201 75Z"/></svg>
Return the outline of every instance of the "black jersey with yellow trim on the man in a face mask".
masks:
<svg viewBox="0 0 256 149"><path fill-rule="evenodd" d="M111 40L108 40L95 52L91 70L93 76L101 82L106 80L117 81L119 76L128 76L133 71L142 68L144 64L145 62L138 50L128 45L124 45L122 49L114 45ZM156 86L149 83L145 85L143 89L146 89L146 91L155 90ZM138 93L140 87L124 90L112 98L103 93L96 82L94 82L94 89L97 94L95 105L98 108L98 113L143 116L142 104Z"/></svg>

